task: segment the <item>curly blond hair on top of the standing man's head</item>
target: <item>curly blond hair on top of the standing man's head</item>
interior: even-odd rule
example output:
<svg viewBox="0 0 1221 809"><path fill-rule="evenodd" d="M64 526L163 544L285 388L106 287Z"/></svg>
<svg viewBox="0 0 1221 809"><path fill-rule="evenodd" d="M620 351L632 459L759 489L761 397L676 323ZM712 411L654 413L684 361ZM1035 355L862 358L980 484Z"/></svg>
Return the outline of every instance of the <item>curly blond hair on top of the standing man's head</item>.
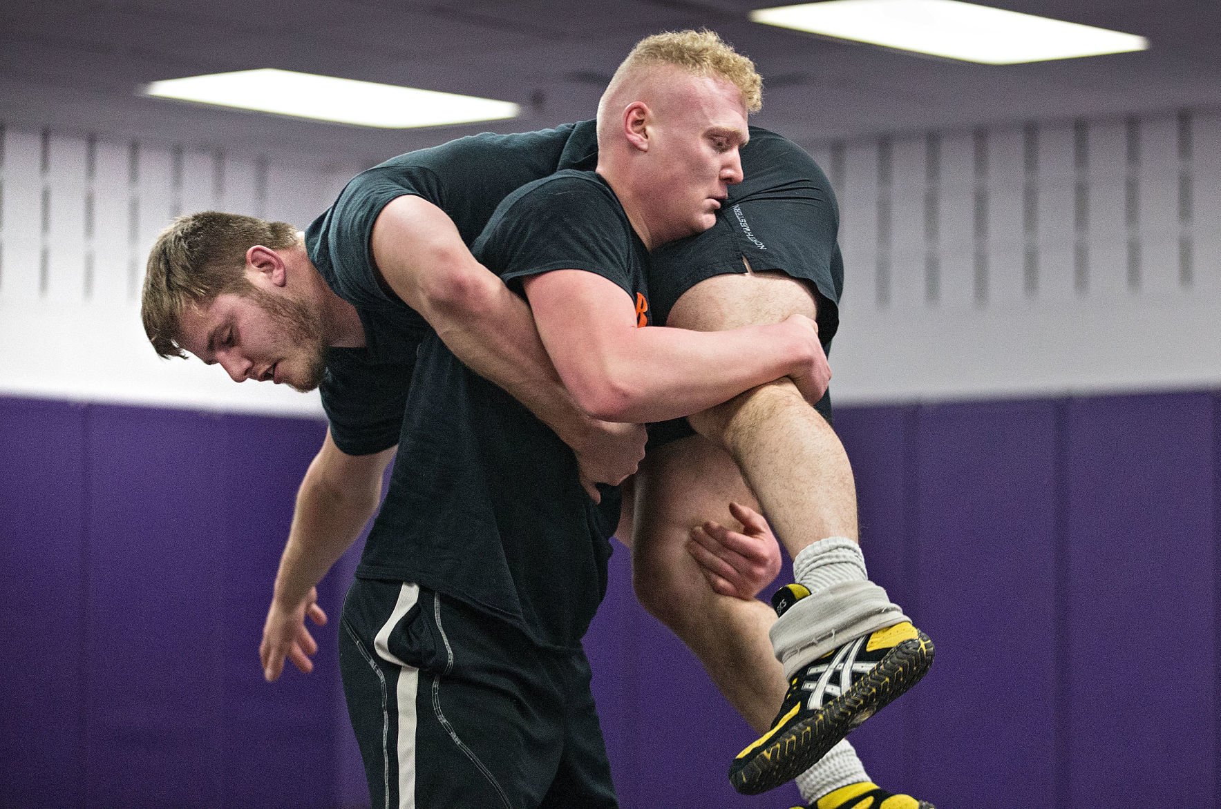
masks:
<svg viewBox="0 0 1221 809"><path fill-rule="evenodd" d="M763 107L763 78L755 70L755 62L707 28L667 31L641 39L610 77L603 98L609 98L629 73L661 65L695 76L723 78L741 90L747 112L758 112Z"/></svg>

